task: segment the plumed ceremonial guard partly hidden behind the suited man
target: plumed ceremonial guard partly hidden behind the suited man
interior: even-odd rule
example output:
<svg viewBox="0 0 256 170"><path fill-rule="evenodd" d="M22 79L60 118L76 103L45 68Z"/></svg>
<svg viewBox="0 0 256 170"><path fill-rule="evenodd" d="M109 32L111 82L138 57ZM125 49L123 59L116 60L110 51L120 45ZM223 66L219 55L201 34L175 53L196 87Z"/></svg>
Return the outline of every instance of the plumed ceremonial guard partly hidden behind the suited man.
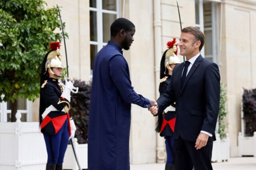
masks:
<svg viewBox="0 0 256 170"><path fill-rule="evenodd" d="M160 95L167 90L171 82L171 74L175 65L181 63L177 57L178 49L176 39L167 42L168 49L164 52L160 63ZM174 170L174 125L175 125L175 104L167 107L162 114L158 114L156 131L165 138L167 161L165 170Z"/></svg>

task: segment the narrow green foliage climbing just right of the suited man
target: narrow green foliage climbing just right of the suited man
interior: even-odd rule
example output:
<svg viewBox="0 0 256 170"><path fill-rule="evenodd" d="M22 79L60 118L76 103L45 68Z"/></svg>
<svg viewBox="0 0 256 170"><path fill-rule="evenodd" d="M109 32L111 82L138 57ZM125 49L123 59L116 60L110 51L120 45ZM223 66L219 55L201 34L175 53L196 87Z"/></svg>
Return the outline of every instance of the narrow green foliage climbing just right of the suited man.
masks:
<svg viewBox="0 0 256 170"><path fill-rule="evenodd" d="M225 121L225 118L227 116L226 103L227 103L226 85L221 83L220 100L219 100L219 131L218 131L221 139L226 138L226 129L227 129L227 123Z"/></svg>

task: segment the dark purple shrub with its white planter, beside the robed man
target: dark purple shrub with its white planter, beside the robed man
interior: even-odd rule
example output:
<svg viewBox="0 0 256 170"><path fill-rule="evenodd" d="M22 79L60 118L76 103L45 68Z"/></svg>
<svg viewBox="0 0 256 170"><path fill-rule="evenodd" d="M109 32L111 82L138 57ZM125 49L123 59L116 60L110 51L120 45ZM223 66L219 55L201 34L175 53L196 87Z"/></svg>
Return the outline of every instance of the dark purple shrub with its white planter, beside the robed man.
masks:
<svg viewBox="0 0 256 170"><path fill-rule="evenodd" d="M75 125L75 140L74 147L77 158L82 169L87 168L87 131L89 107L91 98L91 82L75 80L74 86L78 87L78 93L71 94L70 110ZM78 165L75 161L72 146L68 146L65 153L63 169L78 170Z"/></svg>

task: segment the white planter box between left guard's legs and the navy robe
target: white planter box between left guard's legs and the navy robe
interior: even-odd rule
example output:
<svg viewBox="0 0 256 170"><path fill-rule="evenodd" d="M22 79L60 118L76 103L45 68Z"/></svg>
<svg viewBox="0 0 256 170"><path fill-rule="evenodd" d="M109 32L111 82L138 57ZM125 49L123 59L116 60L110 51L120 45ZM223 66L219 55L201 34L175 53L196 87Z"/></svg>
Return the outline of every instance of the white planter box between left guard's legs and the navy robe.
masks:
<svg viewBox="0 0 256 170"><path fill-rule="evenodd" d="M77 155L78 162L82 169L87 169L87 144L78 144L77 139L74 139L74 148ZM75 156L72 150L71 144L68 145L63 162L63 169L72 169L72 170L79 170L78 165L75 160Z"/></svg>

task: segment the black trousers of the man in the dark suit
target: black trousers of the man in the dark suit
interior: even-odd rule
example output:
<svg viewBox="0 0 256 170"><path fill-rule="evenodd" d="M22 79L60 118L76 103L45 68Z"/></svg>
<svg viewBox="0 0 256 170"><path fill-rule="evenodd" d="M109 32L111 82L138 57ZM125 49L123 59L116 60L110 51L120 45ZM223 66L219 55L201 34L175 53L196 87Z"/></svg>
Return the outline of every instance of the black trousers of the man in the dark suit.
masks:
<svg viewBox="0 0 256 170"><path fill-rule="evenodd" d="M207 142L201 149L195 148L195 142L174 140L175 170L213 170L211 159L213 142Z"/></svg>

